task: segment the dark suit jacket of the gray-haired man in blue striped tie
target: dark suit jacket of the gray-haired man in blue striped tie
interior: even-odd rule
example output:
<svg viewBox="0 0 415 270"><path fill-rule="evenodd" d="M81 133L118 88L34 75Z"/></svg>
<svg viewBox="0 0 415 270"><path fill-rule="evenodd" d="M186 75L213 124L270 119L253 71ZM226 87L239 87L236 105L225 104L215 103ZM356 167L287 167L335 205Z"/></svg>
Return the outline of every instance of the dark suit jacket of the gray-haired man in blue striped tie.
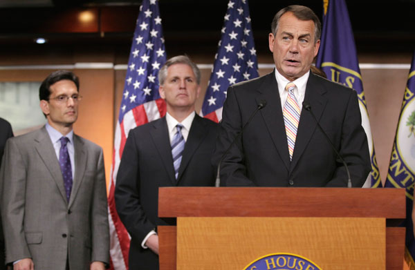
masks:
<svg viewBox="0 0 415 270"><path fill-rule="evenodd" d="M219 126L195 115L185 144L178 180L165 117L130 131L116 181L116 209L131 235L129 269L158 269L158 256L142 249L145 236L158 225L160 186L213 186L210 164Z"/></svg>

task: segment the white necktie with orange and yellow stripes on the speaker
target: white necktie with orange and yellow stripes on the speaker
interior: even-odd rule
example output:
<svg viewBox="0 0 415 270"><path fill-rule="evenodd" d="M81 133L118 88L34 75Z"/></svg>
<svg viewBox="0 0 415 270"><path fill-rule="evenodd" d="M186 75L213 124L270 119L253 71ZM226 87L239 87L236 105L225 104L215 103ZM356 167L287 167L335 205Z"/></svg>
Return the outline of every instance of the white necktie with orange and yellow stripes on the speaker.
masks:
<svg viewBox="0 0 415 270"><path fill-rule="evenodd" d="M299 105L294 95L295 84L289 82L285 90L288 91L286 103L284 104L284 123L286 126L286 135L288 142L288 152L290 160L293 160L295 138L297 137L297 128L299 123Z"/></svg>

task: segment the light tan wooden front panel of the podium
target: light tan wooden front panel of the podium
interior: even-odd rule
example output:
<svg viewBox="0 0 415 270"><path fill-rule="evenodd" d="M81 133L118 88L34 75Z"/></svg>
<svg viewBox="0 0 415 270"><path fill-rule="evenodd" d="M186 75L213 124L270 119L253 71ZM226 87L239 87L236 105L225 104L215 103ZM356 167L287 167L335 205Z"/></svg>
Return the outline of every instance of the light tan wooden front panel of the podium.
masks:
<svg viewBox="0 0 415 270"><path fill-rule="evenodd" d="M177 269L251 269L267 255L265 269L299 262L273 255L284 253L320 267L308 269L379 270L385 242L385 218L177 218Z"/></svg>

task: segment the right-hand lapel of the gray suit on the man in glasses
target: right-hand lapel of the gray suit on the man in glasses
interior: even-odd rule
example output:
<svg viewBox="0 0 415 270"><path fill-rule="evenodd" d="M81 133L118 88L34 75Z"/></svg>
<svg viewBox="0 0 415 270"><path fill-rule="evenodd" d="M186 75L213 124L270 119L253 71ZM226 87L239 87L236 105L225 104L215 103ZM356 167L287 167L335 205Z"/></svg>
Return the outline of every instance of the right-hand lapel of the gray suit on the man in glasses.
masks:
<svg viewBox="0 0 415 270"><path fill-rule="evenodd" d="M77 135L73 135L73 146L75 148L75 175L73 177L73 186L71 197L69 197L69 207L73 204L75 196L80 189L86 168L87 153L84 150L84 142Z"/></svg>

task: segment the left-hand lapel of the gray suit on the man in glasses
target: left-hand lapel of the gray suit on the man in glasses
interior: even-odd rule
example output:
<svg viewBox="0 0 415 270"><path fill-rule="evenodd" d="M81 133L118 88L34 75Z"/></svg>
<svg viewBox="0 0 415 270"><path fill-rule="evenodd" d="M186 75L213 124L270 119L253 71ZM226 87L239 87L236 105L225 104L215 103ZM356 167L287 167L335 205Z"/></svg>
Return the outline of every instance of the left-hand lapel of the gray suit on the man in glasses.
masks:
<svg viewBox="0 0 415 270"><path fill-rule="evenodd" d="M39 130L39 136L35 137L35 148L39 157L44 162L45 167L48 168L50 175L59 189L59 193L62 195L62 199L67 203L66 192L64 187L64 178L62 177L62 171L59 166L59 162L56 157L55 148L53 143L50 141L48 131L44 126Z"/></svg>

